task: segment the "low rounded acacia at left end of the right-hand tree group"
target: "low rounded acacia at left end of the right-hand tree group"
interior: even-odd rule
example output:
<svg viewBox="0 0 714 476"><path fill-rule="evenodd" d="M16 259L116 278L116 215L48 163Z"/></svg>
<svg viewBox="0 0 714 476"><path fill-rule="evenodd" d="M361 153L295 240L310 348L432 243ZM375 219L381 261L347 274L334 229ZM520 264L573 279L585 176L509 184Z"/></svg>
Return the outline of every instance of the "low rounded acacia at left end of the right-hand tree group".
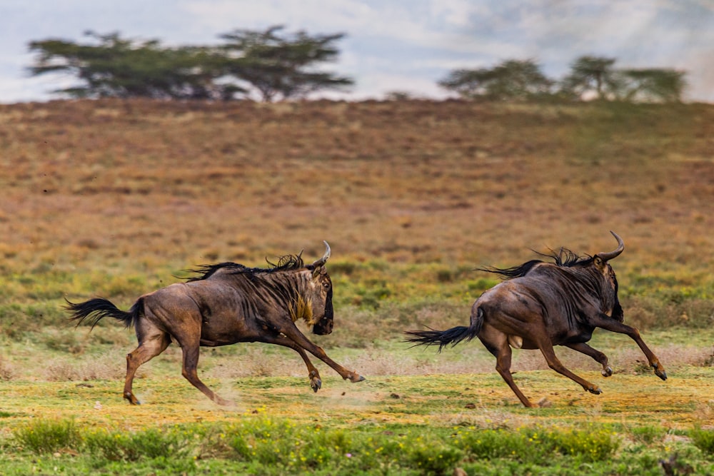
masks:
<svg viewBox="0 0 714 476"><path fill-rule="evenodd" d="M528 59L503 61L490 69L456 69L438 84L464 98L513 101L547 95L553 81Z"/></svg>

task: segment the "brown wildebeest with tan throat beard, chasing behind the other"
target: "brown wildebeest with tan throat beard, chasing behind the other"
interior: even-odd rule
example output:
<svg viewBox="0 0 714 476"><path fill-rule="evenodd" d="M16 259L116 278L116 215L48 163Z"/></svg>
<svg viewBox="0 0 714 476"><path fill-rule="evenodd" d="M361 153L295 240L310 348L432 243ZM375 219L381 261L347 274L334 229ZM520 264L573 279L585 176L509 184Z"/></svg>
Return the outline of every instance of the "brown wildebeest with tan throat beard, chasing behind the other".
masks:
<svg viewBox="0 0 714 476"><path fill-rule="evenodd" d="M67 301L66 309L77 325L89 319L94 328L106 317L121 320L126 327L134 325L139 347L126 355L124 383L124 398L134 405L139 404L131 391L136 369L164 352L171 341L181 346L183 377L218 405L230 402L198 378L200 346L263 342L291 348L303 358L316 392L322 381L306 350L343 379L361 382L361 375L329 358L295 325L303 319L315 334L332 332L332 281L325 266L330 245L324 243L325 254L311 265L304 264L301 255L286 255L266 269L236 263L201 266L195 278L141 296L128 312L101 298L78 304Z"/></svg>

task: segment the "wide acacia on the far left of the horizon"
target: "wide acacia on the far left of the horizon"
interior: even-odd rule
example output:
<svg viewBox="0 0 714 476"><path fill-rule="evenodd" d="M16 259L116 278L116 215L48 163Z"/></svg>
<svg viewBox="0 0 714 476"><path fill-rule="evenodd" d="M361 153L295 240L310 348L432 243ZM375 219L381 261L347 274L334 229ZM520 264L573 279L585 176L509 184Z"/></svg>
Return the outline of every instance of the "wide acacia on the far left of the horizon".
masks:
<svg viewBox="0 0 714 476"><path fill-rule="evenodd" d="M122 39L118 33L87 31L94 44L32 41L37 54L29 71L38 76L66 72L79 86L54 92L71 97L211 98L218 95L211 54L201 47L164 48L159 41Z"/></svg>

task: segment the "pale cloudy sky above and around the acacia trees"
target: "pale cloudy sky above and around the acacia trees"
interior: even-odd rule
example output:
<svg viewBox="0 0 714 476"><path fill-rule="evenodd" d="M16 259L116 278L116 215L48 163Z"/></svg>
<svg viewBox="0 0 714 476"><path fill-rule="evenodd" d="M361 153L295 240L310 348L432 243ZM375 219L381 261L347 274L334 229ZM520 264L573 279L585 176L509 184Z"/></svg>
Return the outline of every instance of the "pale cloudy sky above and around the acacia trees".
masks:
<svg viewBox="0 0 714 476"><path fill-rule="evenodd" d="M276 24L347 35L330 69L356 81L348 99L443 98L436 81L451 69L505 59L535 59L558 79L591 54L687 71L686 98L714 102L714 0L0 0L0 103L45 101L71 83L30 78L29 41L84 42L91 29L198 45Z"/></svg>

